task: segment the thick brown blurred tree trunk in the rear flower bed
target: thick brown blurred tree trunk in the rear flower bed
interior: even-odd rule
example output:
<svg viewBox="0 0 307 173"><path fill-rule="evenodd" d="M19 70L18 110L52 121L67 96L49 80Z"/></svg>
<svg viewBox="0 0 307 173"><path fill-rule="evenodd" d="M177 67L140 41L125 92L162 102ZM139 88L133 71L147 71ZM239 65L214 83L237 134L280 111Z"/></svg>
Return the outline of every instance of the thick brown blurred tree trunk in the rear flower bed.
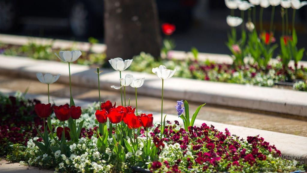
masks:
<svg viewBox="0 0 307 173"><path fill-rule="evenodd" d="M104 0L107 58L131 59L144 51L160 56L161 35L155 0Z"/></svg>

